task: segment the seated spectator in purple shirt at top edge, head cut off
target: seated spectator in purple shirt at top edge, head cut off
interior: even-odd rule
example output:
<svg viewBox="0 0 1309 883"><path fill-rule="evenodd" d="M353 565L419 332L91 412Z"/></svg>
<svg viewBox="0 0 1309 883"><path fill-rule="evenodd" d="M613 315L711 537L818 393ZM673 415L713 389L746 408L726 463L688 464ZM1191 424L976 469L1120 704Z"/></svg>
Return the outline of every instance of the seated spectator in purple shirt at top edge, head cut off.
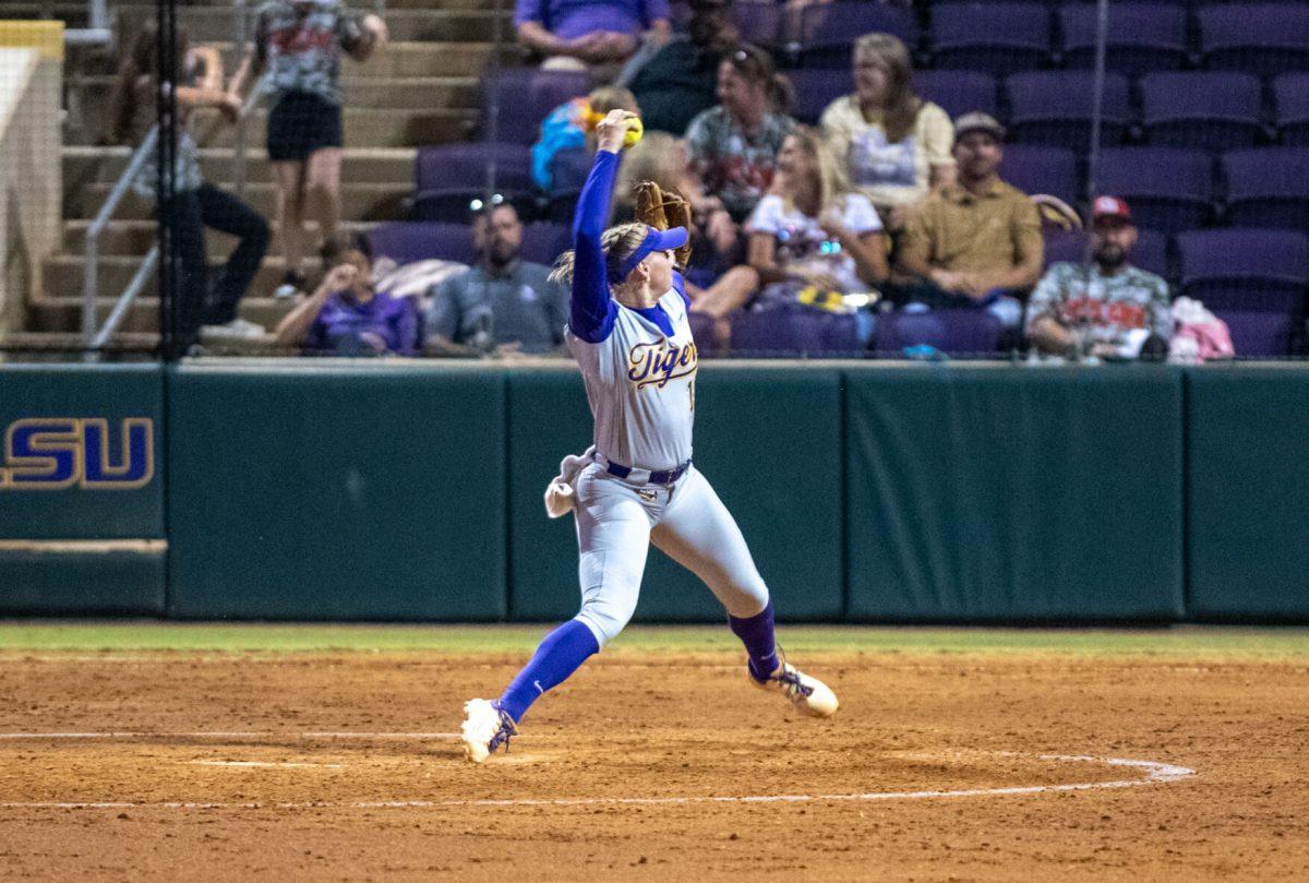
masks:
<svg viewBox="0 0 1309 883"><path fill-rule="evenodd" d="M668 0L518 0L513 24L543 68L563 71L622 64L643 38L673 34Z"/></svg>

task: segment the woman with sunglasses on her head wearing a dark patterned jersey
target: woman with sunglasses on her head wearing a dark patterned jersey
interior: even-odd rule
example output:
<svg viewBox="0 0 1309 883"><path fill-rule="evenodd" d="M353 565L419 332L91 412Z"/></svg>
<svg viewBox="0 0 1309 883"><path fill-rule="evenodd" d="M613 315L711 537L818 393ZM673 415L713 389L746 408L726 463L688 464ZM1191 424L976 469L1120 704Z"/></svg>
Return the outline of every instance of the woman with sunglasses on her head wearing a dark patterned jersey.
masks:
<svg viewBox="0 0 1309 883"><path fill-rule="evenodd" d="M784 85L772 59L754 46L742 43L719 64L717 97L716 107L691 121L687 149L704 191L740 223L772 185L781 141L796 121L780 110Z"/></svg>

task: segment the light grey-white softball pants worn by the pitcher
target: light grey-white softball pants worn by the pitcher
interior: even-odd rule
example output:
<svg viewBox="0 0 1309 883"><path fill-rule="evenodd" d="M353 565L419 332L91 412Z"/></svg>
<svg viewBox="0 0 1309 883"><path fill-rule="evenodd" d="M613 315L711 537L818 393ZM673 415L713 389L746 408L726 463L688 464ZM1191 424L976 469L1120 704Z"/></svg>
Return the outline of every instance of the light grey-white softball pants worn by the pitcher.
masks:
<svg viewBox="0 0 1309 883"><path fill-rule="evenodd" d="M692 465L673 487L637 487L592 464L577 478L581 620L603 647L636 611L653 542L699 576L726 612L745 618L768 604L732 514Z"/></svg>

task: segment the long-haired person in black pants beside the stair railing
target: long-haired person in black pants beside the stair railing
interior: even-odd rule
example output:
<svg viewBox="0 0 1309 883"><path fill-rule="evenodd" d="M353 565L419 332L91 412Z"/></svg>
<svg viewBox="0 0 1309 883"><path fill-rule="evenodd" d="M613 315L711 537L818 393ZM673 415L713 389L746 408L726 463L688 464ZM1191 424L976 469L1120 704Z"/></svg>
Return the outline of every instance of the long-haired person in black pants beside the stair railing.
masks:
<svg viewBox="0 0 1309 883"><path fill-rule="evenodd" d="M156 39L156 29L147 25L136 33L123 59L110 101L106 140L113 144L140 144L154 124L154 72L160 67ZM186 31L181 29L177 31L175 46L175 101L182 124L178 127L173 161L173 194L162 199L156 194L158 161L154 151L151 151L149 161L134 179L132 189L144 199L156 202L156 211L168 219L173 229L182 269L175 292L181 334L178 343L186 350L202 330L206 334L242 338L263 334L259 325L237 317L237 304L249 290L264 252L268 250L268 224L246 203L206 183L200 173L199 148L187 127L191 111L216 107L230 122L237 118L241 105L223 90L223 59L217 50L190 47ZM212 290L204 244L206 227L237 237L237 248L228 257Z"/></svg>

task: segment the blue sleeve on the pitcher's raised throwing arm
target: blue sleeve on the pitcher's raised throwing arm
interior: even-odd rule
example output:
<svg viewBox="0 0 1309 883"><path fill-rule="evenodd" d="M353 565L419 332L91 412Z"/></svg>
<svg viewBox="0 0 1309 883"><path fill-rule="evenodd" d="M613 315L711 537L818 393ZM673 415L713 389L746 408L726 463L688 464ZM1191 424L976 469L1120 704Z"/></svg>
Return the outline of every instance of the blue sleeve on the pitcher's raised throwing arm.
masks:
<svg viewBox="0 0 1309 883"><path fill-rule="evenodd" d="M609 198L614 191L617 173L618 155L597 151L573 217L573 292L568 328L586 343L600 343L607 338L618 314L614 299L609 296L605 249L600 241L605 233Z"/></svg>

